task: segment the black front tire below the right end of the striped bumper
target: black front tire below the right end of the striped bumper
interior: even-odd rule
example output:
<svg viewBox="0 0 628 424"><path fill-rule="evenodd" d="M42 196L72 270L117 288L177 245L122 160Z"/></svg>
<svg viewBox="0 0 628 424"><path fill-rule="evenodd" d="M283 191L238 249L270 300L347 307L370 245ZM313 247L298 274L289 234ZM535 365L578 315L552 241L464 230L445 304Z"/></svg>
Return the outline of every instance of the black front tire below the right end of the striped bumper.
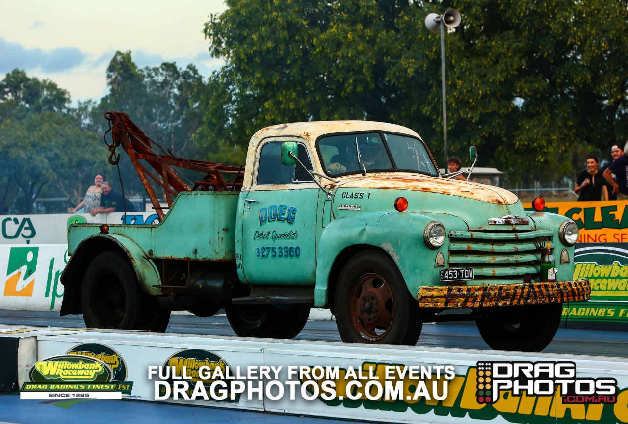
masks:
<svg viewBox="0 0 628 424"><path fill-rule="evenodd" d="M477 329L494 351L541 352L560 326L562 303L475 310Z"/></svg>

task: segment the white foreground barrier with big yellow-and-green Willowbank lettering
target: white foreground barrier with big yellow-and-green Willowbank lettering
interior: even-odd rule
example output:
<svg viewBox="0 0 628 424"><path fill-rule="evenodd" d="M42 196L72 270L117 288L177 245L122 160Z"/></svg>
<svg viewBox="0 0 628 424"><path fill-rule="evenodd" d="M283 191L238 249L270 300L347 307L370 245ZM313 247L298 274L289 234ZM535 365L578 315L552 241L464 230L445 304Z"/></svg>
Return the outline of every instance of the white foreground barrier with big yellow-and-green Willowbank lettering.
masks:
<svg viewBox="0 0 628 424"><path fill-rule="evenodd" d="M123 363L127 372L111 378L126 385L123 398L183 405L377 422L628 422L624 359L133 332L118 340L40 336L38 361Z"/></svg>

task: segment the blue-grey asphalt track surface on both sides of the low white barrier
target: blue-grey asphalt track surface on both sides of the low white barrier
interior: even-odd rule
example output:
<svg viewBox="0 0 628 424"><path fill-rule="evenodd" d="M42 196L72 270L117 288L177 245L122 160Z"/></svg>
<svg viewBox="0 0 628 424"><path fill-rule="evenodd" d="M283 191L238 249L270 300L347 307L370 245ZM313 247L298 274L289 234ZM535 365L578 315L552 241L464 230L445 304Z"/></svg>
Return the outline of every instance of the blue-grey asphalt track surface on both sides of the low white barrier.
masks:
<svg viewBox="0 0 628 424"><path fill-rule="evenodd" d="M81 315L60 317L57 312L0 310L0 324L33 327L85 327ZM200 318L194 315L172 315L169 333L235 335L224 315ZM299 340L338 341L333 321L309 321L296 337ZM417 343L426 347L453 349L488 349L475 325L426 324ZM555 339L543 351L547 354L628 357L628 332L559 329ZM56 407L58 406L58 408ZM71 407L70 407L71 406ZM1 423L63 422L65 424L193 424L193 423L297 423L325 424L347 422L325 418L277 415L254 411L222 410L138 401L84 401L68 406L50 401L22 401L16 395L0 394Z"/></svg>

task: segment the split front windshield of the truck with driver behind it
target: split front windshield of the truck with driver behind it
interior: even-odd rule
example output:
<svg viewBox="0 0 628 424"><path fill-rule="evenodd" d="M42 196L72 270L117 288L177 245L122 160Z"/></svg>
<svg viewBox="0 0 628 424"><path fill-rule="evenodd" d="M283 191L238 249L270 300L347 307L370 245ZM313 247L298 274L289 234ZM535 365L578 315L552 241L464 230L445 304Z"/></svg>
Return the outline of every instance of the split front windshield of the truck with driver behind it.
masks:
<svg viewBox="0 0 628 424"><path fill-rule="evenodd" d="M365 170L438 176L425 144L412 136L389 133L328 136L318 141L318 151L328 175L363 173Z"/></svg>

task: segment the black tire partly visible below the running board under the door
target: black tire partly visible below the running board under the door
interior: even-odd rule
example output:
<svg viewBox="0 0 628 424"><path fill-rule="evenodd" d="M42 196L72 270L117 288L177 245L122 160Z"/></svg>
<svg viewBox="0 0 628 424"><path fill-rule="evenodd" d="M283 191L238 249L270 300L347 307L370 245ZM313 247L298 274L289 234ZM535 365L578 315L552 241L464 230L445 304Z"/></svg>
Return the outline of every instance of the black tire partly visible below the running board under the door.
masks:
<svg viewBox="0 0 628 424"><path fill-rule="evenodd" d="M310 317L309 305L228 305L231 328L241 337L293 339Z"/></svg>

